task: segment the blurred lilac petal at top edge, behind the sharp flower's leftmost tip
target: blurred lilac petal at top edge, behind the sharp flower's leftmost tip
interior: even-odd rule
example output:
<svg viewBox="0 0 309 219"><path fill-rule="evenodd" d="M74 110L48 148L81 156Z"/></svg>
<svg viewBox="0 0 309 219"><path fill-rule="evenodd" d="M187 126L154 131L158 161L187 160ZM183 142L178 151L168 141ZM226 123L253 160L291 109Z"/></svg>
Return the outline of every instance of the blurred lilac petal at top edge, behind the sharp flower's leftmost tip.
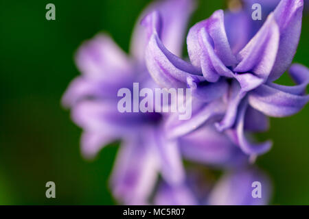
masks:
<svg viewBox="0 0 309 219"><path fill-rule="evenodd" d="M141 13L138 21L141 21L146 14L149 14L153 10L158 10L162 15L161 40L163 44L175 55L181 55L187 22L195 8L194 5L194 1L192 0L157 1L150 4ZM138 22L133 31L130 53L141 62L144 62L145 48L148 42L146 35L145 28L141 27Z"/></svg>

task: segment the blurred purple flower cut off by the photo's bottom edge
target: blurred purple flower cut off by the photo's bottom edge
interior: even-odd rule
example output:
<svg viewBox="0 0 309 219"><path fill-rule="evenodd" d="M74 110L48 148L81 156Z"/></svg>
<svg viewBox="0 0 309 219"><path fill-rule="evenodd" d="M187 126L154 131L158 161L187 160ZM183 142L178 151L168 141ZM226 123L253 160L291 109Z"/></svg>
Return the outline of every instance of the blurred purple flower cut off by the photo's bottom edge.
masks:
<svg viewBox="0 0 309 219"><path fill-rule="evenodd" d="M182 185L161 182L155 205L267 205L271 197L267 175L254 166L229 170L215 182L203 174L200 169L190 169ZM261 186L260 194L253 190L255 186Z"/></svg>

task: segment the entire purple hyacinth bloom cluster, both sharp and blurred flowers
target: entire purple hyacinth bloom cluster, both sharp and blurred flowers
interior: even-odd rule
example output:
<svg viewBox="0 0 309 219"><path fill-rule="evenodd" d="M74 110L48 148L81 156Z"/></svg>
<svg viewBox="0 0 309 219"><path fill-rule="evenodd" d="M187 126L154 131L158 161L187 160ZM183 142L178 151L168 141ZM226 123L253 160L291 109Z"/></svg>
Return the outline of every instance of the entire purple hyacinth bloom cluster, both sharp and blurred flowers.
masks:
<svg viewBox="0 0 309 219"><path fill-rule="evenodd" d="M265 131L267 116L290 116L309 101L308 68L290 66L301 33L303 1L280 1L272 8L275 5L258 24L244 16L246 7L218 10L197 23L187 34L189 62L180 56L194 9L190 0L155 1L146 8L133 30L130 55L106 34L78 49L76 64L82 75L71 82L62 102L83 129L85 157L95 157L106 144L121 140L111 176L119 203L268 203L268 178L249 164L249 157L266 153L271 142L253 144L245 134ZM288 68L297 85L273 83ZM119 112L117 92L133 90L133 83L150 89L191 88L192 118ZM183 166L183 159L225 174L216 182L204 179L203 170ZM262 198L251 195L253 181L262 183Z"/></svg>

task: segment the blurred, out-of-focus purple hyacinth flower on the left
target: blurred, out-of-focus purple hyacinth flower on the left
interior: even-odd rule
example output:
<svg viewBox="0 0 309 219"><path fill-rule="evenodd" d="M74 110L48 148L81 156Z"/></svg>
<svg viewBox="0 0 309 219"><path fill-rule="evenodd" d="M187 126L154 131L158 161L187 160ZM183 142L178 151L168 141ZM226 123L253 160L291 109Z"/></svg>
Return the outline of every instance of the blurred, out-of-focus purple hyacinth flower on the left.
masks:
<svg viewBox="0 0 309 219"><path fill-rule="evenodd" d="M158 1L151 10L163 14L163 42L176 54L182 51L187 20L194 8L192 1ZM152 88L144 62L146 37L139 23L133 31L128 57L106 34L84 42L76 55L82 75L74 79L62 103L71 108L72 120L82 127L82 154L92 158L108 143L122 140L111 176L115 197L124 204L144 204L152 192L158 172L169 183L183 181L181 156L175 140L165 140L160 129L164 115L120 113L117 110L120 88Z"/></svg>

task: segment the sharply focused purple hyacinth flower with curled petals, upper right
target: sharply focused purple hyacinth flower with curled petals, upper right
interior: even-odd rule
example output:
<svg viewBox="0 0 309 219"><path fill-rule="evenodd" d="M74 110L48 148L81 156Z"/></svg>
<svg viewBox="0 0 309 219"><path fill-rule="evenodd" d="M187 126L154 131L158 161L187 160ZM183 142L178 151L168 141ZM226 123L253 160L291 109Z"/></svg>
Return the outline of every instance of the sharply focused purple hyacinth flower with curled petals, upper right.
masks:
<svg viewBox="0 0 309 219"><path fill-rule="evenodd" d="M171 117L168 121L167 129L173 130L170 137L179 137L206 122L218 120L218 130L228 129L227 133L244 153L259 155L268 151L271 142L253 144L244 132L264 131L268 128L266 116L293 115L309 101L309 96L304 94L309 83L308 68L299 64L290 67L296 86L273 83L295 55L303 5L301 0L280 1L241 49L239 45L246 38L239 34L239 20L225 22L222 10L214 12L189 31L190 63L164 47L159 12L144 18L144 26L150 33L146 48L149 73L163 87L189 86L196 97L190 120L182 122Z"/></svg>

